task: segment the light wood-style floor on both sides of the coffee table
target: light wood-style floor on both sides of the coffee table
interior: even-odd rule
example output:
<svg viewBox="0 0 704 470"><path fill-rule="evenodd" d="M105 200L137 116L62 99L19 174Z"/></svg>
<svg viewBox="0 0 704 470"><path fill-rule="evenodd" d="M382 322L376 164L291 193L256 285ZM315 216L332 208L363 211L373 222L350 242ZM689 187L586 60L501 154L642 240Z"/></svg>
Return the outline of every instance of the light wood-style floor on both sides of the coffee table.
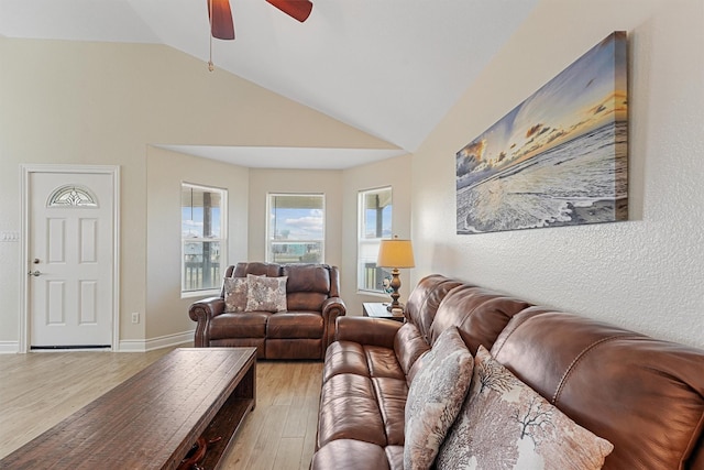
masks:
<svg viewBox="0 0 704 470"><path fill-rule="evenodd" d="M168 351L0 354L0 459ZM258 361L256 408L223 468L308 469L321 375L322 362Z"/></svg>

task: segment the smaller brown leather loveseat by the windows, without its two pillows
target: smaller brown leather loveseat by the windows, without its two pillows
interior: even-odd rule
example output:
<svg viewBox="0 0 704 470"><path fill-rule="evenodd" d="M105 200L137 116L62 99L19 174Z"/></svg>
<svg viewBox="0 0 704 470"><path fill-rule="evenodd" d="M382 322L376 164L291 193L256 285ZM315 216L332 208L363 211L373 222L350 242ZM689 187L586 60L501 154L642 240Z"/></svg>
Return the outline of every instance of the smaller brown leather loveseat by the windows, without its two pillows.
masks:
<svg viewBox="0 0 704 470"><path fill-rule="evenodd" d="M327 264L238 263L226 277L288 276L287 310L226 313L220 297L196 302L188 310L197 321L195 346L256 347L260 359L322 359L334 338L336 319L345 314L337 266Z"/></svg>

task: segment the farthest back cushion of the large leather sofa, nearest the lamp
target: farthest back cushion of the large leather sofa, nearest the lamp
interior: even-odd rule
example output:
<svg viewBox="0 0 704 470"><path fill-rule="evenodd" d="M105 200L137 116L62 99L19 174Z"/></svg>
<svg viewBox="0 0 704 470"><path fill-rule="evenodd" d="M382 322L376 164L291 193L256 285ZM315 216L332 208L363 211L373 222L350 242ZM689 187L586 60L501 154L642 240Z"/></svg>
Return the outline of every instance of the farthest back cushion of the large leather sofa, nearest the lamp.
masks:
<svg viewBox="0 0 704 470"><path fill-rule="evenodd" d="M429 342L430 340L430 325L440 302L442 302L448 292L461 284L461 282L441 274L431 274L420 280L408 296L404 315L408 321L418 327L426 341Z"/></svg>

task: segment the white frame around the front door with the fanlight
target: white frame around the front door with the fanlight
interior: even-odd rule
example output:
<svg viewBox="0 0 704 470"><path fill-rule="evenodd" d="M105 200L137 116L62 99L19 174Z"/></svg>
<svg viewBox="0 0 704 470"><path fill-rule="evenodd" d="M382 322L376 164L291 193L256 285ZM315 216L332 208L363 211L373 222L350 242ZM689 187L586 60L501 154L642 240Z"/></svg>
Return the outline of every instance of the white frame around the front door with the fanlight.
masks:
<svg viewBox="0 0 704 470"><path fill-rule="evenodd" d="M20 165L20 332L19 352L30 350L30 289L28 266L30 265L30 175L32 173L98 173L112 177L112 345L117 351L120 346L120 166L118 165Z"/></svg>

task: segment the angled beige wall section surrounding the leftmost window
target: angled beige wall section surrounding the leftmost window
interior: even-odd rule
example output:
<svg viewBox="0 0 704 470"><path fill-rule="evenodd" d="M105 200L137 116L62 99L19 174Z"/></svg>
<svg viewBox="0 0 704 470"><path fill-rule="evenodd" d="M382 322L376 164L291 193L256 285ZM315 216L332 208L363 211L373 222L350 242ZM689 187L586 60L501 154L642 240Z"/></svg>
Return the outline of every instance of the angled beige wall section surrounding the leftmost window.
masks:
<svg viewBox="0 0 704 470"><path fill-rule="evenodd" d="M182 183L228 190L228 251L223 264L246 256L249 170L148 147L146 161L146 318L150 346L193 339L195 323L186 313L197 298L180 296Z"/></svg>

